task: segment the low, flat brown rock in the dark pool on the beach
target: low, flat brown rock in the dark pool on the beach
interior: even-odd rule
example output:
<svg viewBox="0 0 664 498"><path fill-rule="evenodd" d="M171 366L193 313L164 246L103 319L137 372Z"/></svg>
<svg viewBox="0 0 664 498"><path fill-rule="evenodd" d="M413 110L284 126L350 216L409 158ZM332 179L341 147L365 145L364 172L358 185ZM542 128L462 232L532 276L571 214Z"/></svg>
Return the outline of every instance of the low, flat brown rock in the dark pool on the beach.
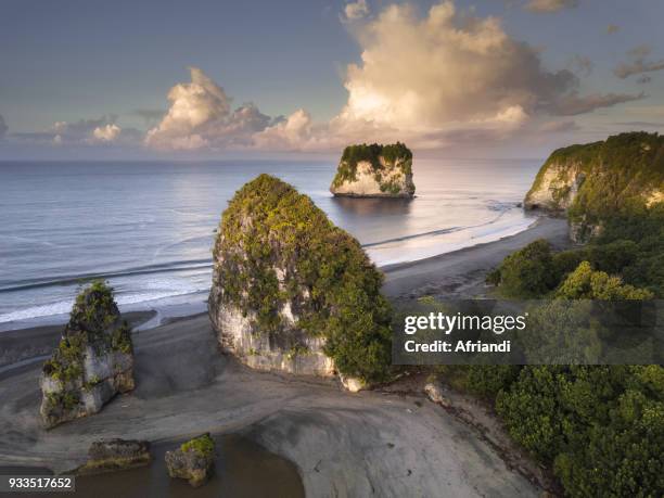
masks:
<svg viewBox="0 0 664 498"><path fill-rule="evenodd" d="M146 440L101 439L90 445L88 461L76 473L114 472L148 465L151 461Z"/></svg>

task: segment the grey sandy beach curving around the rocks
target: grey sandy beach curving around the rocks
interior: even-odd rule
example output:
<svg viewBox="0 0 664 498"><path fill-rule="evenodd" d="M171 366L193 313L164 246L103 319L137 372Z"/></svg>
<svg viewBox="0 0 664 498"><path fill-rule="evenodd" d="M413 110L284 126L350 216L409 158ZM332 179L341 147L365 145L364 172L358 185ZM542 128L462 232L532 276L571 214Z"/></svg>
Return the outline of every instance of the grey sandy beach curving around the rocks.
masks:
<svg viewBox="0 0 664 498"><path fill-rule="evenodd" d="M565 221L540 219L514 237L385 268L384 291L393 299L481 295L486 271L539 238L564 245ZM349 394L332 381L252 371L218 352L206 315L136 333L137 390L94 417L47 432L38 420L41 359L30 361L25 352L36 337L47 344L56 334L43 328L0 334L3 358L23 352L15 354L20 363L0 370L0 467L64 472L85 460L93 439L164 443L208 431L246 436L293 461L311 497L541 493L423 394Z"/></svg>

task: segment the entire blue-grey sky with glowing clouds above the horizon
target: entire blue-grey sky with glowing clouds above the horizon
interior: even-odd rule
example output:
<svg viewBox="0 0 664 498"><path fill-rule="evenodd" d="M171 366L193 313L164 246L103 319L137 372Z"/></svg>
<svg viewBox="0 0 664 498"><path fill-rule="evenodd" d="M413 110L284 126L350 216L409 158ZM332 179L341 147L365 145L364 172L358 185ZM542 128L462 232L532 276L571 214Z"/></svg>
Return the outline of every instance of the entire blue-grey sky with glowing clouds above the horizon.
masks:
<svg viewBox="0 0 664 498"><path fill-rule="evenodd" d="M0 161L545 156L664 129L661 0L3 0Z"/></svg>

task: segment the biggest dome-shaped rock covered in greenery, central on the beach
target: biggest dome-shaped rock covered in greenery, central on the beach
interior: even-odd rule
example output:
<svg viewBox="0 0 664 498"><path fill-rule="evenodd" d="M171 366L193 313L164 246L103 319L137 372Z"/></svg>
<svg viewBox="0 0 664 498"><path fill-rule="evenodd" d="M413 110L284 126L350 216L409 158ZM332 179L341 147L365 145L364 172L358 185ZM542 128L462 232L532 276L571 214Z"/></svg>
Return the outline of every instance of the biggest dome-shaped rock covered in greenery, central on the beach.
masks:
<svg viewBox="0 0 664 498"><path fill-rule="evenodd" d="M384 374L382 274L309 197L260 175L230 202L213 254L209 316L226 350L261 370Z"/></svg>

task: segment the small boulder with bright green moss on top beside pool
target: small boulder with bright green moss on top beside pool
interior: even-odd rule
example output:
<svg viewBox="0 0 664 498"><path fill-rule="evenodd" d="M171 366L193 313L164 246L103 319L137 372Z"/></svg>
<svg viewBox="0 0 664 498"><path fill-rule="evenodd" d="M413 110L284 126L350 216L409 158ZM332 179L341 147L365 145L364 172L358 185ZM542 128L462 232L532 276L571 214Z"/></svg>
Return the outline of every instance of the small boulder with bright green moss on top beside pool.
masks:
<svg viewBox="0 0 664 498"><path fill-rule="evenodd" d="M215 464L215 440L209 434L191 439L174 451L166 451L168 475L189 481L193 487L207 482Z"/></svg>

